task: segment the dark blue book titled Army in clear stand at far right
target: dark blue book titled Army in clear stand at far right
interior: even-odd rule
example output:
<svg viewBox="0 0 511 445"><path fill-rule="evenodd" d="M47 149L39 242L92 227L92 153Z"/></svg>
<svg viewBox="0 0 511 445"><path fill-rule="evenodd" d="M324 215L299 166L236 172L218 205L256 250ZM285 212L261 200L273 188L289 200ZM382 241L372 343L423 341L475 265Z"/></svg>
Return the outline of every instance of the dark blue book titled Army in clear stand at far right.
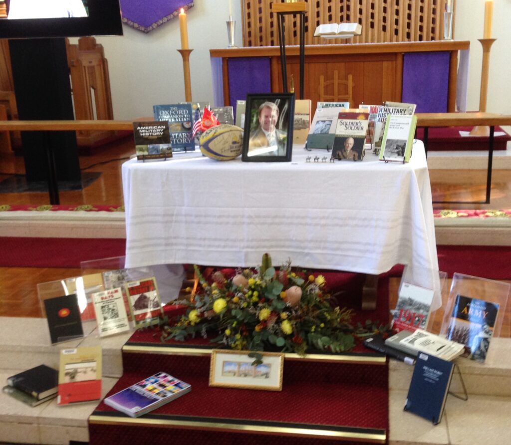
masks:
<svg viewBox="0 0 511 445"><path fill-rule="evenodd" d="M486 300L457 295L447 338L464 345L464 355L484 362L493 336L499 305Z"/></svg>

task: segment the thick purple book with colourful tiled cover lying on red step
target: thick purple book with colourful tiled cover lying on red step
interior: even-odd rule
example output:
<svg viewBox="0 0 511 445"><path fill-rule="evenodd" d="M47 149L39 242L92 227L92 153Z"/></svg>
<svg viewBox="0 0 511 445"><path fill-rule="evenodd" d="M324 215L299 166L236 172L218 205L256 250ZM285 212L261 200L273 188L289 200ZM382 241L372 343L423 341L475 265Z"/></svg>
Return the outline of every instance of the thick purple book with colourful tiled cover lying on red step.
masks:
<svg viewBox="0 0 511 445"><path fill-rule="evenodd" d="M106 397L104 402L105 405L124 414L139 417L177 399L191 389L188 383L166 372L157 372L141 382Z"/></svg>

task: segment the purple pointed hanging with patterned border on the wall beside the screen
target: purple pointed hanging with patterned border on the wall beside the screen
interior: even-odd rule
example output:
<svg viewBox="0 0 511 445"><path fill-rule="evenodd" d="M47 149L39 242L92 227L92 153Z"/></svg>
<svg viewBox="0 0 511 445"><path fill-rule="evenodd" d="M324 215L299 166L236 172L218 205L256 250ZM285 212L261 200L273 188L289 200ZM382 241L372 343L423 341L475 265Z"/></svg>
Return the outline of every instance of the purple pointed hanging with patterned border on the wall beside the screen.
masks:
<svg viewBox="0 0 511 445"><path fill-rule="evenodd" d="M120 0L123 23L148 33L165 24L179 14L179 10L190 9L194 2L186 0Z"/></svg>

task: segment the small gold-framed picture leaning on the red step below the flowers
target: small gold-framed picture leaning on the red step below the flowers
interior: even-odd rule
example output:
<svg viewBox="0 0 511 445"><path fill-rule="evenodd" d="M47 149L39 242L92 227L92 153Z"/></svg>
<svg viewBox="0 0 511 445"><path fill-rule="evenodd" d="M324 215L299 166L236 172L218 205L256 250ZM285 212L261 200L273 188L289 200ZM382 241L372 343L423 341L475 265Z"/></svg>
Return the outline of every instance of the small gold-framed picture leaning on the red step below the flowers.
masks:
<svg viewBox="0 0 511 445"><path fill-rule="evenodd" d="M284 354L261 353L263 363L252 365L251 351L214 349L211 353L210 386L282 391Z"/></svg>

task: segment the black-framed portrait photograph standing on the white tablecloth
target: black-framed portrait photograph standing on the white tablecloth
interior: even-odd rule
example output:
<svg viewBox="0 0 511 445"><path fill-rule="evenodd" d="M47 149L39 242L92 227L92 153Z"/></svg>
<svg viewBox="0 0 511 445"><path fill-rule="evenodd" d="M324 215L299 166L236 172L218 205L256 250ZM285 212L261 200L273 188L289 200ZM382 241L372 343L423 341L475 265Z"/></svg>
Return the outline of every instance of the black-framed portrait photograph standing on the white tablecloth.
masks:
<svg viewBox="0 0 511 445"><path fill-rule="evenodd" d="M247 95L243 161L286 162L293 149L294 93Z"/></svg>

